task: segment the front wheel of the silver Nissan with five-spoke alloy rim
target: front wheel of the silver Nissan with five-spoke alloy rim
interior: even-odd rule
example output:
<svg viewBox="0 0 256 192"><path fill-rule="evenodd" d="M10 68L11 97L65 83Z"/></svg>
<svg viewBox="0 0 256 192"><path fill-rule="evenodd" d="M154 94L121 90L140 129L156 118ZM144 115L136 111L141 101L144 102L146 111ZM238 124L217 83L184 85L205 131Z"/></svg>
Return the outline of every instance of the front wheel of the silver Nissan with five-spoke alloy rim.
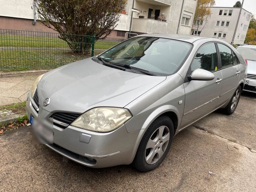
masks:
<svg viewBox="0 0 256 192"><path fill-rule="evenodd" d="M173 134L174 126L168 116L154 120L140 141L133 161L134 167L141 172L158 167L170 149Z"/></svg>

